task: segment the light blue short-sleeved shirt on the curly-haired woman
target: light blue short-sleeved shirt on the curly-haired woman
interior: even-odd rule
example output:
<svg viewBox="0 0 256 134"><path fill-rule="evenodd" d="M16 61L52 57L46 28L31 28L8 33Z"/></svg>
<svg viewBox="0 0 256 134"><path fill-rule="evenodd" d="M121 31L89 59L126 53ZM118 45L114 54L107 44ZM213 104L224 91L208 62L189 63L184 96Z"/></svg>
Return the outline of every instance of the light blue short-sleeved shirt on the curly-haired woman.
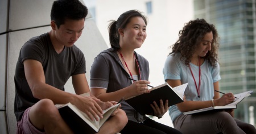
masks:
<svg viewBox="0 0 256 134"><path fill-rule="evenodd" d="M197 87L199 86L199 66L189 63L193 76L195 77ZM216 67L210 66L208 60L205 60L201 64L201 84L200 84L200 98L196 90L195 81L189 67L184 64L184 61L180 60L180 53L175 56L168 55L163 68L164 80L181 80L182 84L188 83L188 87L185 89L185 97L187 101L208 101L212 100L214 96L213 83L219 81L220 77L220 65L217 63ZM170 106L169 114L172 122L177 116L182 113L177 109L176 105Z"/></svg>

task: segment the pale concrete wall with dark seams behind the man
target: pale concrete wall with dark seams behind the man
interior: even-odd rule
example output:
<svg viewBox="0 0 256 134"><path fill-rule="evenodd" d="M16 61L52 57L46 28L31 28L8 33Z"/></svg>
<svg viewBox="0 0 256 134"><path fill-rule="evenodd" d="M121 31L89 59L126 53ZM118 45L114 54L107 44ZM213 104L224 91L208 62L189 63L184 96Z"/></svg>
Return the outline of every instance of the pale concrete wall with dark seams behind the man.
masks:
<svg viewBox="0 0 256 134"><path fill-rule="evenodd" d="M52 2L0 1L0 133L16 133L14 73L19 50L29 38L51 30L49 24ZM88 82L94 57L108 48L91 18L91 15L87 16L84 31L76 42L76 46L85 55ZM74 93L71 80L65 85L65 89Z"/></svg>

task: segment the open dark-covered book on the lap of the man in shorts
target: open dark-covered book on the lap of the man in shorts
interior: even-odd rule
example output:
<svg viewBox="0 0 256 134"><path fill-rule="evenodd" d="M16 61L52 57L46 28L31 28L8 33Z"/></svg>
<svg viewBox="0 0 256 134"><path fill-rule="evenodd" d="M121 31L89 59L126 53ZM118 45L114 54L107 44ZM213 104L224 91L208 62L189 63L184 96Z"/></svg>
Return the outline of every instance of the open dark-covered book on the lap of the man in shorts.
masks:
<svg viewBox="0 0 256 134"><path fill-rule="evenodd" d="M119 105L120 103L103 110L103 118L98 121L96 119L91 120L88 115L80 111L75 105L72 105L72 103L55 106L74 133L97 133Z"/></svg>

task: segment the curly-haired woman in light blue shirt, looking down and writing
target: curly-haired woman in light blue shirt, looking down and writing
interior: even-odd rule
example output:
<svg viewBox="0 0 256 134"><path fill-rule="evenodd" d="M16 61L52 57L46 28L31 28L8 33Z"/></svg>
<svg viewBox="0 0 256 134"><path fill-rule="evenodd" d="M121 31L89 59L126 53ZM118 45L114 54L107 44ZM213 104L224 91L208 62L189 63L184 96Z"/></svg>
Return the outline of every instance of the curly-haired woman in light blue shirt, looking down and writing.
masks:
<svg viewBox="0 0 256 134"><path fill-rule="evenodd" d="M204 19L191 20L179 32L164 64L164 80L176 87L188 83L184 102L171 106L174 127L182 133L255 133L251 124L234 119L234 110L207 111L184 115L186 111L224 106L234 101L232 93L220 97L218 81L218 33Z"/></svg>

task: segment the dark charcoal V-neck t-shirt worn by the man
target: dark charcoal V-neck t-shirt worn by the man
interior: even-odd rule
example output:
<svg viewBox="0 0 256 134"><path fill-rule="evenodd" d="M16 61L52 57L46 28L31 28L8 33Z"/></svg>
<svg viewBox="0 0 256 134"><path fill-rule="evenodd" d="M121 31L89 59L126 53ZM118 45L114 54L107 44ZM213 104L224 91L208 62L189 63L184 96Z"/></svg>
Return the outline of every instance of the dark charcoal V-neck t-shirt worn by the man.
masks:
<svg viewBox="0 0 256 134"><path fill-rule="evenodd" d="M64 90L64 85L72 75L85 74L85 58L82 51L73 45L64 47L57 54L53 48L49 33L33 37L20 49L15 70L15 102L16 120L22 119L24 111L39 100L34 98L24 74L24 60L34 59L42 63L46 83Z"/></svg>

